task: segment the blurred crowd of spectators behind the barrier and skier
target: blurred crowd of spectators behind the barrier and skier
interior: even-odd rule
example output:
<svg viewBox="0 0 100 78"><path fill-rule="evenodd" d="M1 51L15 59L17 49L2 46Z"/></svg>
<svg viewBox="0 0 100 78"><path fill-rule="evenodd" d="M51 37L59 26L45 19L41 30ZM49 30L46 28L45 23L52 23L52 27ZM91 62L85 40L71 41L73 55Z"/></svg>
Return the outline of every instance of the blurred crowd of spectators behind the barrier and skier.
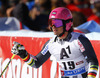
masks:
<svg viewBox="0 0 100 78"><path fill-rule="evenodd" d="M15 17L34 31L50 31L48 19L56 7L73 15L73 27L94 20L100 24L100 0L0 0L0 17Z"/></svg>

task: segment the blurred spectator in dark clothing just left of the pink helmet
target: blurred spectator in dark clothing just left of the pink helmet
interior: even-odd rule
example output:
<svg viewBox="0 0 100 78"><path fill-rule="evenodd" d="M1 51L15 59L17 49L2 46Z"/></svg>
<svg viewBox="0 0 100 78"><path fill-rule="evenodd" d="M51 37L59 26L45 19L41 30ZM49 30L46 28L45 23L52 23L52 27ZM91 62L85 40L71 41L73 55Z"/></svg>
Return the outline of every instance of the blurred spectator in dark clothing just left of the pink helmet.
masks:
<svg viewBox="0 0 100 78"><path fill-rule="evenodd" d="M51 11L51 2L50 0L35 0L35 5L30 11L30 16L33 20L39 21L40 31L49 31L48 30L48 18Z"/></svg>

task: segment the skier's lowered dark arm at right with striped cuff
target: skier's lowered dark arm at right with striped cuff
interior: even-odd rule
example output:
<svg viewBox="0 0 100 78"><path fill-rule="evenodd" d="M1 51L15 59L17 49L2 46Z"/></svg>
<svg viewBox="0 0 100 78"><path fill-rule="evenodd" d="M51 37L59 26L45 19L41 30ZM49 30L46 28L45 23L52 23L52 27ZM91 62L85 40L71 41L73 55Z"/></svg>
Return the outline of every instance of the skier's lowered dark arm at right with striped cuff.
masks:
<svg viewBox="0 0 100 78"><path fill-rule="evenodd" d="M90 63L90 67L88 70L88 77L95 78L97 75L97 71L98 71L98 60L94 52L94 49L90 41L86 37L81 35L79 37L79 41L82 43L84 47L84 51L82 52L82 54L84 55L87 62Z"/></svg>

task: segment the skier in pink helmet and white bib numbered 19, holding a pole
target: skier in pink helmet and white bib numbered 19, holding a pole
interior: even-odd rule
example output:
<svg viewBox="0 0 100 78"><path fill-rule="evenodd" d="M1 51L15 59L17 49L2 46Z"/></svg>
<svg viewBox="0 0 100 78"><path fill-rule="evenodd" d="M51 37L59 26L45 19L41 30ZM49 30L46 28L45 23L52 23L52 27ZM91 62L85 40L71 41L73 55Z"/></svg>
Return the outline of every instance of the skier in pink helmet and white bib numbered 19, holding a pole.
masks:
<svg viewBox="0 0 100 78"><path fill-rule="evenodd" d="M14 42L11 52L34 68L39 68L53 55L59 63L61 78L95 78L96 54L88 38L73 32L71 12L64 7L55 8L49 15L49 25L56 36L45 43L39 54L29 54L18 42Z"/></svg>

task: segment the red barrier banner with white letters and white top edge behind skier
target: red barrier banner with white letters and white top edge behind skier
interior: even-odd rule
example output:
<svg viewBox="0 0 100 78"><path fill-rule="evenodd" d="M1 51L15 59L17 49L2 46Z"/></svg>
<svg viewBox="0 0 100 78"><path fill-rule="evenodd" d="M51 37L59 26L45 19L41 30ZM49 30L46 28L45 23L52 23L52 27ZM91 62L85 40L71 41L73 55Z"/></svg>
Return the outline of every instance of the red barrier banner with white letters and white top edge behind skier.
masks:
<svg viewBox="0 0 100 78"><path fill-rule="evenodd" d="M52 36L54 36L52 32L0 31L0 73L12 57L13 41L24 45L28 53L37 55ZM100 40L91 40L91 43L100 61ZM50 57L40 68L35 69L16 55L1 78L60 78L60 74L54 57Z"/></svg>

